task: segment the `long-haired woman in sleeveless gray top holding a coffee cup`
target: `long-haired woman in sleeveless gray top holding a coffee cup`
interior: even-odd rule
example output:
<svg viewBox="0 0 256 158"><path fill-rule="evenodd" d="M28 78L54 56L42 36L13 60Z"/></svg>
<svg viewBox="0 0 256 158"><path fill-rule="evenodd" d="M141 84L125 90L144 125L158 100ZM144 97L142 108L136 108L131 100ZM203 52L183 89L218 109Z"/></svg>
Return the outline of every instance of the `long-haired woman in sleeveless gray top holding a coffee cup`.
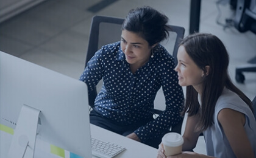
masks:
<svg viewBox="0 0 256 158"><path fill-rule="evenodd" d="M182 154L169 157L256 157L252 102L230 80L229 55L218 37L194 33L177 54L180 86L187 86L188 119ZM203 132L207 156L191 152ZM166 157L159 145L158 157Z"/></svg>

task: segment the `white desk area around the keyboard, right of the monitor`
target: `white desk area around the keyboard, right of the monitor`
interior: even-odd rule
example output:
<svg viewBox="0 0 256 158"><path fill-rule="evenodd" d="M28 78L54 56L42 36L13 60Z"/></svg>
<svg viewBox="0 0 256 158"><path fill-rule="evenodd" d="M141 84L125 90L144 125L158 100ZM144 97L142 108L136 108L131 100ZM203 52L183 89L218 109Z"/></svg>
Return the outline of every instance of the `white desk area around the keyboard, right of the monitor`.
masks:
<svg viewBox="0 0 256 158"><path fill-rule="evenodd" d="M124 146L126 150L115 158L157 157L157 149L95 125L91 125L91 137Z"/></svg>

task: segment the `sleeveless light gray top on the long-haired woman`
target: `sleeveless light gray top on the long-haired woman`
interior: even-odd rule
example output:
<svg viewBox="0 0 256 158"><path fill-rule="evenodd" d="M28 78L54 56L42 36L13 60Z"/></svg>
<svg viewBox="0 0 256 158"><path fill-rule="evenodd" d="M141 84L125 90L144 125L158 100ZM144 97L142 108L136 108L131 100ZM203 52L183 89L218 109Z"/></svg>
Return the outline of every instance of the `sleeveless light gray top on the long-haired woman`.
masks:
<svg viewBox="0 0 256 158"><path fill-rule="evenodd" d="M254 114L249 106L229 89L224 89L222 95L218 98L215 106L215 114L213 115L214 123L204 131L207 155L214 157L236 157L217 118L219 111L224 108L239 111L246 116L244 129L246 130L247 137L254 151L254 156L256 157L256 121Z"/></svg>

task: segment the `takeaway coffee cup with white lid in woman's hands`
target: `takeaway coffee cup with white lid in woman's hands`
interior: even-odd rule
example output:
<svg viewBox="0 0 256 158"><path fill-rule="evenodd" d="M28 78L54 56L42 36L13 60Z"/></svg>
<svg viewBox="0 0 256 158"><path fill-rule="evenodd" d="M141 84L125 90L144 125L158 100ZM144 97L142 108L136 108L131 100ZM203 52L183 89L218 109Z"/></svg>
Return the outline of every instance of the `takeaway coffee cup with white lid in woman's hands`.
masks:
<svg viewBox="0 0 256 158"><path fill-rule="evenodd" d="M176 132L169 132L162 138L163 148L166 156L182 153L183 138Z"/></svg>

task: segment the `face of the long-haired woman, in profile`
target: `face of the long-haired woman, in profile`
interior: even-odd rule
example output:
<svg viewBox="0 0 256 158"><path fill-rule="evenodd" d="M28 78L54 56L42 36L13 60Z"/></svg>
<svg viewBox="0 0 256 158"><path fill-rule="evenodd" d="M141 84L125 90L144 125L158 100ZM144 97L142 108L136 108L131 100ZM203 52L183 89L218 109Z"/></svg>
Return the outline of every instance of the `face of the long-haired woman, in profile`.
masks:
<svg viewBox="0 0 256 158"><path fill-rule="evenodd" d="M179 47L177 59L178 64L174 70L178 72L180 86L193 86L197 89L202 83L204 71L194 63L184 46Z"/></svg>

